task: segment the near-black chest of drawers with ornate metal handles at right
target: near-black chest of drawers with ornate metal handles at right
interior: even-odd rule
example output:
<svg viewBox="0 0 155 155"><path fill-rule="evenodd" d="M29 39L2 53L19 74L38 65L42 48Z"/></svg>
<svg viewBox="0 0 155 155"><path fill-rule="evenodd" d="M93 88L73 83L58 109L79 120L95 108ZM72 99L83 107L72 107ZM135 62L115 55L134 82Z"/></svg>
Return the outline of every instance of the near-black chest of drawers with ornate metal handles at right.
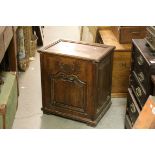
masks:
<svg viewBox="0 0 155 155"><path fill-rule="evenodd" d="M132 45L132 64L129 79L129 94L132 101L127 99L126 115L133 125L138 118L138 111L141 110L149 97L153 94L153 83L151 75L155 74L155 54L146 46L145 39L134 39ZM132 104L136 105L131 110ZM137 106L138 105L138 106ZM132 112L131 112L132 111ZM134 119L133 119L134 118Z"/></svg>

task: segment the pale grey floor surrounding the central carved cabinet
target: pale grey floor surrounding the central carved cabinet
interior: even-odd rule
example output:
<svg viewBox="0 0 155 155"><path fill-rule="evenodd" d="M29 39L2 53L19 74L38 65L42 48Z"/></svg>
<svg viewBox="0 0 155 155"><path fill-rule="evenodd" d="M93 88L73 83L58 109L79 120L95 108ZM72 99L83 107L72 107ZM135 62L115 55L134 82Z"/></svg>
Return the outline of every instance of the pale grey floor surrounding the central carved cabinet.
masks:
<svg viewBox="0 0 155 155"><path fill-rule="evenodd" d="M79 27L45 27L44 45L57 39L79 40ZM54 115L44 115L41 111L40 60L36 53L35 60L19 77L19 106L13 124L14 129L118 129L124 128L126 99L113 98L112 106L95 128L84 123Z"/></svg>

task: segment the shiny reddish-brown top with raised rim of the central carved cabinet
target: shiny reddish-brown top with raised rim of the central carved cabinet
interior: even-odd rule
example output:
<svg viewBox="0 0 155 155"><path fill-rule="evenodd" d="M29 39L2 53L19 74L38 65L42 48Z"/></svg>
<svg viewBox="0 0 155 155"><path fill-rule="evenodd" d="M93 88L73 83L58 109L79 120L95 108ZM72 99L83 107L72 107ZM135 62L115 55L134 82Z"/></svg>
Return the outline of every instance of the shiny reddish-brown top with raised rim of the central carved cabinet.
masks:
<svg viewBox="0 0 155 155"><path fill-rule="evenodd" d="M71 57L99 61L114 48L114 46L107 46L96 43L88 44L83 42L58 40L51 45L40 49L39 52L67 55Z"/></svg>

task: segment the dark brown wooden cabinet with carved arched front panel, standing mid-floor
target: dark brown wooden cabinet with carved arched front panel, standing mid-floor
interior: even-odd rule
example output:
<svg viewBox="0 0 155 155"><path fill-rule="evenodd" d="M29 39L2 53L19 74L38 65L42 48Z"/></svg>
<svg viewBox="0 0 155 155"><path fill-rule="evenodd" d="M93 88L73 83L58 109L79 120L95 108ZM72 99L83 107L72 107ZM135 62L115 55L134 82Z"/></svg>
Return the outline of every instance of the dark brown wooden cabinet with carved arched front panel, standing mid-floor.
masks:
<svg viewBox="0 0 155 155"><path fill-rule="evenodd" d="M65 40L39 50L43 112L95 126L111 105L113 50Z"/></svg>

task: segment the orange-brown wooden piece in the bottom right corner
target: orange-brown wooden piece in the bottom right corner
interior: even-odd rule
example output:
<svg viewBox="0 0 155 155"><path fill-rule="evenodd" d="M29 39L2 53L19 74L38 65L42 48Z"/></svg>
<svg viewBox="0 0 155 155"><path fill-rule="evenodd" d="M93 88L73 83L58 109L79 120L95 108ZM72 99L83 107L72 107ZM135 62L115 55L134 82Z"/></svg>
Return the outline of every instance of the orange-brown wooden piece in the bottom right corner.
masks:
<svg viewBox="0 0 155 155"><path fill-rule="evenodd" d="M133 129L155 129L155 96L149 96Z"/></svg>

